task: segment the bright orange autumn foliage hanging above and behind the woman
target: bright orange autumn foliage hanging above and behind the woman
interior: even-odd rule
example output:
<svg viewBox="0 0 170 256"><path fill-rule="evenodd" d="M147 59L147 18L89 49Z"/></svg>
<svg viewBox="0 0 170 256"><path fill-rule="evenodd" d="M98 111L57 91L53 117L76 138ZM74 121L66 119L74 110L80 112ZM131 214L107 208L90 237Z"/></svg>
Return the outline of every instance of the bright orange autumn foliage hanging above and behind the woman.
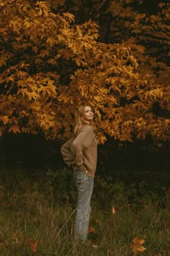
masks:
<svg viewBox="0 0 170 256"><path fill-rule="evenodd" d="M96 22L76 24L73 14L58 12L64 1L55 1L55 9L50 2L0 1L0 135L69 137L73 112L86 103L94 108L101 143L107 135L120 141L146 135L169 140L168 67L164 58L146 54L140 43L145 35L102 43ZM111 7L120 15L118 2ZM130 30L144 19L130 17L136 22ZM161 40L167 40L164 31Z"/></svg>

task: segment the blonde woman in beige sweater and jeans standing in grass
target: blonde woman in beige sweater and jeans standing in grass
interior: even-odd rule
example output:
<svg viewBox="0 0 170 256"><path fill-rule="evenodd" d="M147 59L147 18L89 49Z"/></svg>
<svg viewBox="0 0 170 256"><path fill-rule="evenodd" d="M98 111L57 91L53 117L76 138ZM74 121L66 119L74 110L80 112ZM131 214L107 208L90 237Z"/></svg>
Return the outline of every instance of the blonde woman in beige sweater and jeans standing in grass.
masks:
<svg viewBox="0 0 170 256"><path fill-rule="evenodd" d="M61 147L64 161L73 167L73 177L78 190L74 236L82 242L88 233L90 202L97 168L97 140L92 128L93 117L90 106L80 106L73 137Z"/></svg>

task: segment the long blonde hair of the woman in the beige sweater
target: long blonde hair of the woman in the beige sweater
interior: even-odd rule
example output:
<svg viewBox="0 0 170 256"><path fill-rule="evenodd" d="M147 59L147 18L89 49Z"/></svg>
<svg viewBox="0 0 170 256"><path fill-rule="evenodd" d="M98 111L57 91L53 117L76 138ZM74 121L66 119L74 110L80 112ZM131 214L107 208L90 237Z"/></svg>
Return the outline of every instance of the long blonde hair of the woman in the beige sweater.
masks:
<svg viewBox="0 0 170 256"><path fill-rule="evenodd" d="M79 134L79 130L81 129L81 127L86 123L86 121L83 119L84 117L84 111L85 111L85 107L89 106L89 105L81 105L79 106L77 112L76 112L76 116L75 116L75 125L74 125L74 129L73 129L73 133L74 135L78 135ZM92 125L92 121L90 121L90 124Z"/></svg>

